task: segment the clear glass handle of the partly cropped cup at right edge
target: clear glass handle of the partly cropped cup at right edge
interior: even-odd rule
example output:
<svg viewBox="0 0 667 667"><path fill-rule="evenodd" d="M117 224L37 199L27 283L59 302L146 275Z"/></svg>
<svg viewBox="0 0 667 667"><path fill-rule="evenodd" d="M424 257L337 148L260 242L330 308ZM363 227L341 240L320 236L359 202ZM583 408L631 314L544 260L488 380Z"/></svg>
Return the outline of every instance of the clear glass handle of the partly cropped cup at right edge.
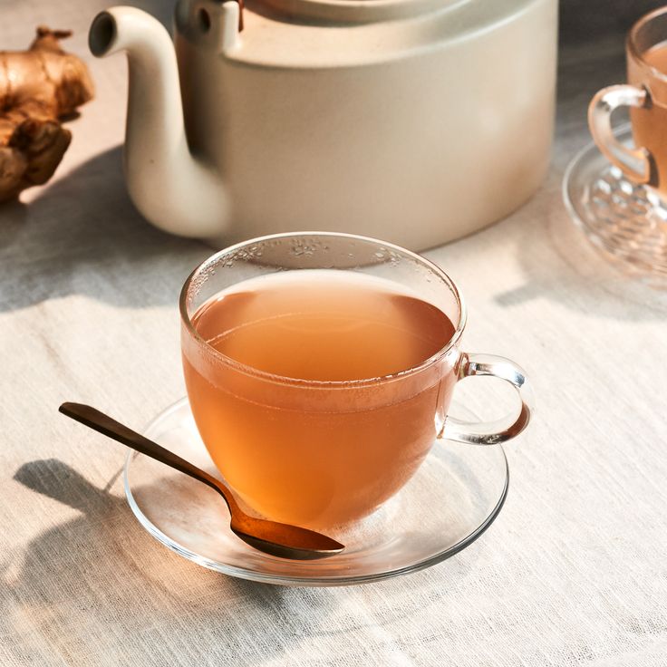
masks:
<svg viewBox="0 0 667 667"><path fill-rule="evenodd" d="M651 153L643 147L631 149L616 140L612 130L612 113L619 107L647 107L651 96L645 88L619 84L603 88L594 94L588 105L588 127L593 140L604 157L635 183L652 181L653 163Z"/></svg>

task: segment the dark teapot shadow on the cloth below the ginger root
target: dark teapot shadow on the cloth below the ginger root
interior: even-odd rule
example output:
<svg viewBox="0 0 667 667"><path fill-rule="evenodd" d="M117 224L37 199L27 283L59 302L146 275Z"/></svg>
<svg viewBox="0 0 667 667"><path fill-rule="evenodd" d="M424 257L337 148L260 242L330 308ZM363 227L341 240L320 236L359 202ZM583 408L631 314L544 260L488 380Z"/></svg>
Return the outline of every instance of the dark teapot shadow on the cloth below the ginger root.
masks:
<svg viewBox="0 0 667 667"><path fill-rule="evenodd" d="M0 311L69 295L132 308L174 304L211 253L140 217L125 189L121 147L0 212Z"/></svg>

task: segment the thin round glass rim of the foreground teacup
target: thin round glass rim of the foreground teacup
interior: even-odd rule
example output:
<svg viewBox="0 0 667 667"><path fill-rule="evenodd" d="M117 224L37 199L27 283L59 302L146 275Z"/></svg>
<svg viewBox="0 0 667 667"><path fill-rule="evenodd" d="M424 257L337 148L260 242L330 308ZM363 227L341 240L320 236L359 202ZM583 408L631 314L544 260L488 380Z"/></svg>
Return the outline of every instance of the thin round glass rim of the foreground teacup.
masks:
<svg viewBox="0 0 667 667"><path fill-rule="evenodd" d="M459 304L459 322L454 330L454 333L452 333L451 337L449 338L449 341L445 345L443 345L438 352L432 354L428 359L424 360L423 362L420 362L419 364L411 366L410 368L404 369L402 371L390 373L388 375L381 375L374 378L361 378L359 380L305 380L303 378L292 378L286 375L278 375L276 373L262 371L261 369L255 368L254 366L251 366L247 363L238 362L236 359L227 356L227 354L219 352L215 347L208 344L207 341L201 335L199 335L197 329L194 327L192 321L190 320L190 316L188 314L188 307L186 304L186 299L189 292L189 286L192 284L192 281L194 280L196 275L198 275L201 271L205 270L208 266L215 264L220 257L235 252L241 249L242 247L251 246L256 243L261 243L268 240L284 239L290 237L297 238L297 237L313 237L313 236L349 238L357 241L382 244L382 247L387 247L392 250L399 251L401 254L410 256L412 259L417 260L422 265L427 266L427 268L429 268L430 271L432 271L435 275L438 275L440 279L442 279L449 286L449 289L451 290L452 294L455 296L457 300L457 304ZM300 269L295 269L295 270L300 270ZM203 262L198 264L198 266L196 266L195 269L192 271L192 273L190 273L190 275L186 278L186 281L180 290L179 312L180 312L181 322L184 324L189 335L196 341L196 343L203 345L208 350L209 353L213 353L213 355L216 358L218 358L221 362L226 363L228 366L231 366L237 371L244 372L247 375L251 375L260 378L262 380L266 380L268 382L275 382L278 384L288 384L298 387L312 387L316 389L348 389L348 388L372 386L376 384L383 384L386 382L395 382L397 380L402 380L403 378L411 377L412 375L416 375L419 372L425 371L428 368L432 367L435 363L439 362L440 359L446 356L449 353L449 351L457 343L459 343L459 339L461 337L461 334L463 333L466 321L468 319L466 304L463 301L462 296L460 295L458 286L449 277L449 275L446 274L440 268L440 266L435 264L435 262L431 262L430 259L427 259L426 257L421 256L418 253L414 253L411 250L408 250L404 247L397 246L396 244L389 243L387 241L382 241L381 239L378 238L363 237L358 234L346 234L343 232L321 232L321 231L303 231L303 232L300 231L300 232L285 232L282 234L267 234L263 237L250 238L246 241L241 241L232 246L225 247L222 250L218 250L217 253L208 256Z"/></svg>

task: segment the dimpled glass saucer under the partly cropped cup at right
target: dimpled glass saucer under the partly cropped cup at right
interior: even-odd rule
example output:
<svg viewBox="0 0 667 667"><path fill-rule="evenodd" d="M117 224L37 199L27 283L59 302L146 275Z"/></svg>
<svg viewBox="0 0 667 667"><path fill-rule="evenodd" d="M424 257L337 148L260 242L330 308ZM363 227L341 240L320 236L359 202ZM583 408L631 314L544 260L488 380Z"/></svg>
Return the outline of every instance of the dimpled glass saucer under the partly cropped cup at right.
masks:
<svg viewBox="0 0 667 667"><path fill-rule="evenodd" d="M630 125L614 135L633 146ZM607 258L626 273L667 285L667 210L643 186L626 179L594 143L565 170L563 198L575 224Z"/></svg>

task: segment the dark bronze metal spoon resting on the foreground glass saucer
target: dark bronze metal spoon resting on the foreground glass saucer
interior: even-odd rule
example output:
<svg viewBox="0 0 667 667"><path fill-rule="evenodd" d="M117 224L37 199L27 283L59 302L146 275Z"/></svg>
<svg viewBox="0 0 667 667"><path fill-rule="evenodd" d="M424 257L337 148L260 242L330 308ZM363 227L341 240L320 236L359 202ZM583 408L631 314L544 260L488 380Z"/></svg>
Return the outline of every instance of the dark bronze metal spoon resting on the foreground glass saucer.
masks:
<svg viewBox="0 0 667 667"><path fill-rule="evenodd" d="M271 556L294 558L295 560L313 560L339 554L345 548L340 542L331 537L315 533L314 530L279 524L263 518L249 517L240 507L231 491L219 480L198 469L185 459L160 447L156 442L144 438L140 433L129 429L116 420L112 420L103 412L95 410L90 405L81 403L63 403L59 410L73 420L97 430L113 440L122 442L141 454L156 459L171 468L184 472L191 478L198 479L208 487L218 491L225 498L231 522L229 527L235 535L248 545Z"/></svg>

